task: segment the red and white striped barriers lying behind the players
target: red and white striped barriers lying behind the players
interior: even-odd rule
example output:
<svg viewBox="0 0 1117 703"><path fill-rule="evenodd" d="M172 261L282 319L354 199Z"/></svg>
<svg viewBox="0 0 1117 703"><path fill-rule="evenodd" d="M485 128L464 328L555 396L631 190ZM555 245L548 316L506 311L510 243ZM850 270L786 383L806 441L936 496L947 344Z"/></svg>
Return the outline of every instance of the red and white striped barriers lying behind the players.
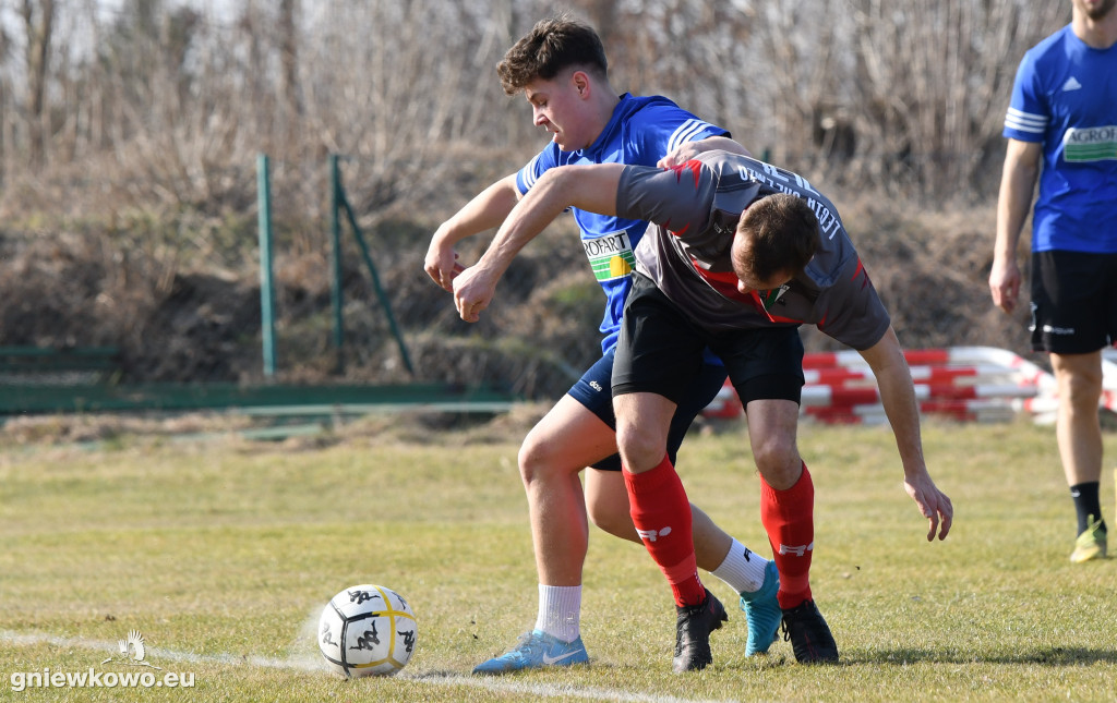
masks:
<svg viewBox="0 0 1117 703"><path fill-rule="evenodd" d="M965 422L1006 422L1021 413L1048 422L1058 405L1054 377L1035 364L994 347L908 349L919 412ZM1117 412L1117 353L1105 360L1102 407ZM885 423L884 406L869 365L853 350L808 354L802 414L825 423ZM703 413L743 414L733 386Z"/></svg>

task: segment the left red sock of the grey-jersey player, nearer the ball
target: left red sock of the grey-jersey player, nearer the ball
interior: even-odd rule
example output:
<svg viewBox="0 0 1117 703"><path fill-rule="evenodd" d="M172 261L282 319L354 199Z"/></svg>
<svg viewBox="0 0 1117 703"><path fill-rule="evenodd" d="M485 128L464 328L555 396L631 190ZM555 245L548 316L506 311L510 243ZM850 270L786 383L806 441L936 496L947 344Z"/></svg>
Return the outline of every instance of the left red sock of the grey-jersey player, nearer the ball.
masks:
<svg viewBox="0 0 1117 703"><path fill-rule="evenodd" d="M706 588L698 579L690 501L675 466L663 456L663 461L650 471L630 473L624 470L621 473L629 493L632 522L648 553L671 585L676 605L698 605L706 596Z"/></svg>

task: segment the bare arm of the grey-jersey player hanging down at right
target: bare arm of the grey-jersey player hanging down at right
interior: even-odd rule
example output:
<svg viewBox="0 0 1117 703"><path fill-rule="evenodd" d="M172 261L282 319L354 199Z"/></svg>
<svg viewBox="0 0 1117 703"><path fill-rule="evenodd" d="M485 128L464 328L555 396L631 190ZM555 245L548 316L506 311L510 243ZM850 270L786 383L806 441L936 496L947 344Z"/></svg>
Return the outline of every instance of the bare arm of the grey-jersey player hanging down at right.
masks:
<svg viewBox="0 0 1117 703"><path fill-rule="evenodd" d="M935 487L923 458L923 440L919 436L919 407L916 404L911 370L904 359L896 331L891 327L880 341L861 352L861 356L872 368L880 388L880 402L896 436L896 447L904 463L904 489L919 507L919 512L930 523L927 541L946 539L954 521L954 505L951 499Z"/></svg>

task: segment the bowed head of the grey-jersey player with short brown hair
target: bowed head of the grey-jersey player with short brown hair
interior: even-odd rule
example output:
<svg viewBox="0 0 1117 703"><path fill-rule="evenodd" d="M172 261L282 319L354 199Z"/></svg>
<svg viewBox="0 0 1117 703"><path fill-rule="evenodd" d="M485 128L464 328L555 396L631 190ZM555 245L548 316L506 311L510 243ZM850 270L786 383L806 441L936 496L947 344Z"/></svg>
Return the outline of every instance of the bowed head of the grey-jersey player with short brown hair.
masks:
<svg viewBox="0 0 1117 703"><path fill-rule="evenodd" d="M777 273L794 278L819 248L819 220L806 201L774 193L741 213L733 247L733 271L742 280L766 281Z"/></svg>

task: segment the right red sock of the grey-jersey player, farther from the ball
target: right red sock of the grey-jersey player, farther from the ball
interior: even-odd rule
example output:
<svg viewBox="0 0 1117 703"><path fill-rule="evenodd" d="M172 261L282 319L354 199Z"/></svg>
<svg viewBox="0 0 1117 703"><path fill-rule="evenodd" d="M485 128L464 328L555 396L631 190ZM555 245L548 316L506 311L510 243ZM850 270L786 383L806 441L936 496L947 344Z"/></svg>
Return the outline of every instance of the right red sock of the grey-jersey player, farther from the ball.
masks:
<svg viewBox="0 0 1117 703"><path fill-rule="evenodd" d="M814 552L814 483L803 464L795 485L777 491L761 478L761 522L768 533L775 567L780 569L781 608L794 608L811 598L811 555Z"/></svg>

